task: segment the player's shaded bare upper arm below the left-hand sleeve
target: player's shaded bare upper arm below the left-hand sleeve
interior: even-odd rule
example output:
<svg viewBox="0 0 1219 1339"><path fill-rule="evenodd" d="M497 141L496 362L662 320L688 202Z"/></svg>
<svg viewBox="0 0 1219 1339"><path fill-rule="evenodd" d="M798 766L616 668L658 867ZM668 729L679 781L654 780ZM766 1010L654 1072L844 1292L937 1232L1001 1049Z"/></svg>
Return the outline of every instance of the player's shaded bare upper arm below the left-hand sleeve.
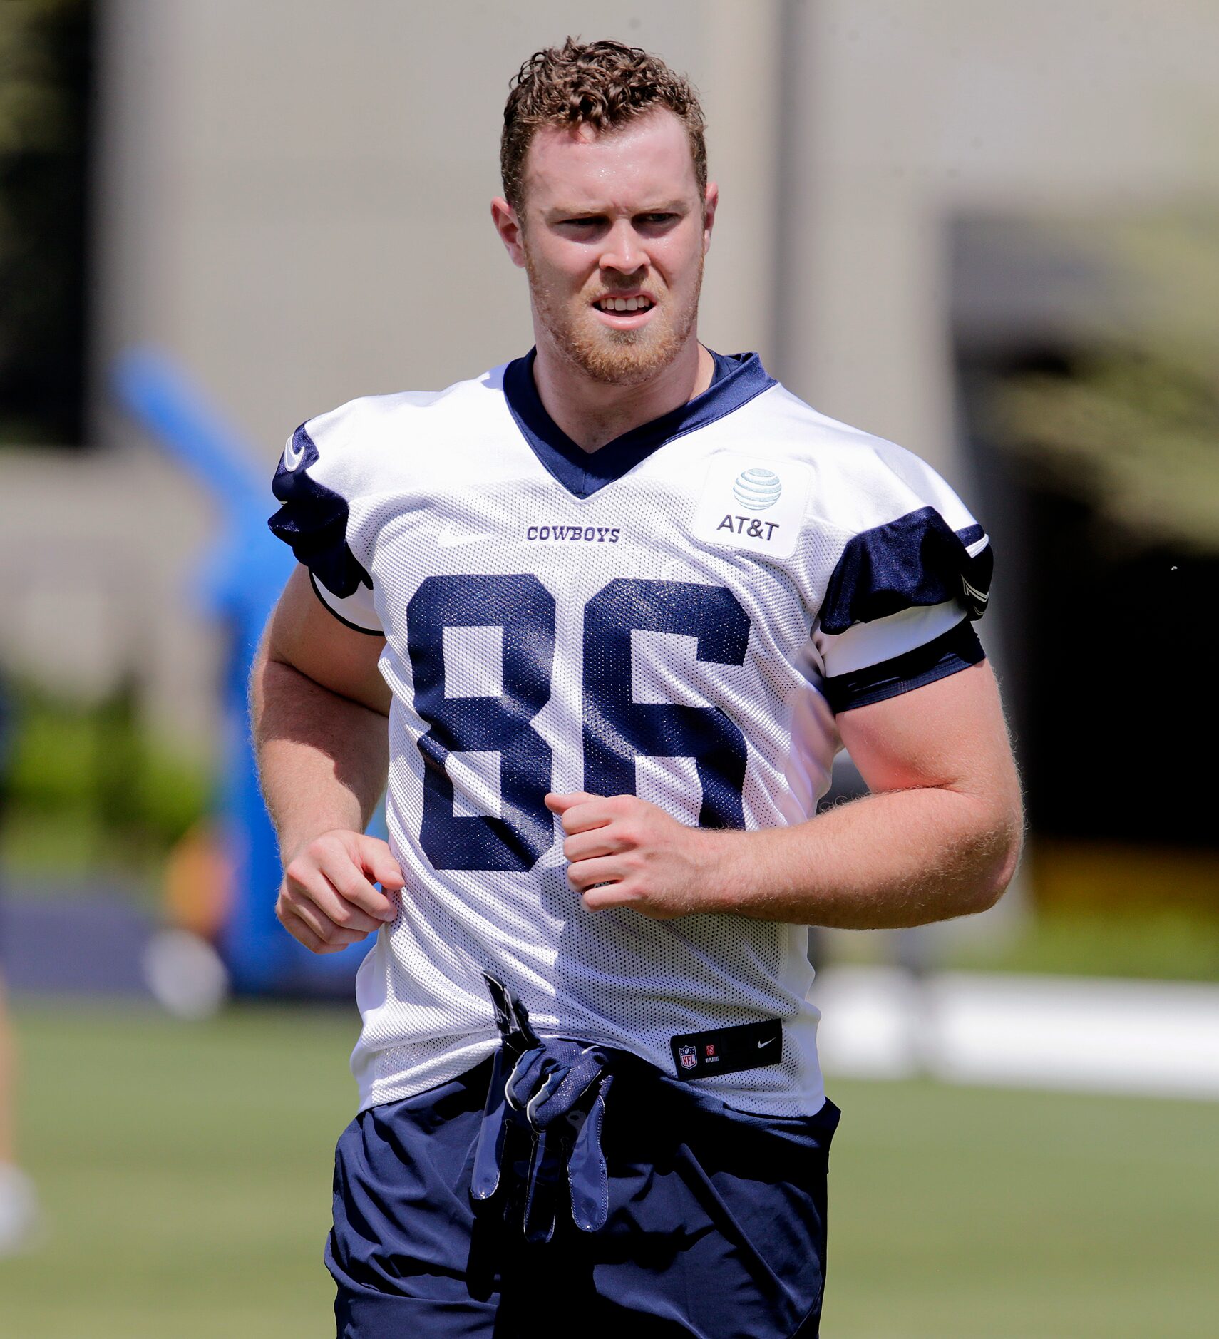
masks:
<svg viewBox="0 0 1219 1339"><path fill-rule="evenodd" d="M335 617L297 565L268 624L265 655L340 696L389 714L391 694L377 661L383 636L357 632Z"/></svg>

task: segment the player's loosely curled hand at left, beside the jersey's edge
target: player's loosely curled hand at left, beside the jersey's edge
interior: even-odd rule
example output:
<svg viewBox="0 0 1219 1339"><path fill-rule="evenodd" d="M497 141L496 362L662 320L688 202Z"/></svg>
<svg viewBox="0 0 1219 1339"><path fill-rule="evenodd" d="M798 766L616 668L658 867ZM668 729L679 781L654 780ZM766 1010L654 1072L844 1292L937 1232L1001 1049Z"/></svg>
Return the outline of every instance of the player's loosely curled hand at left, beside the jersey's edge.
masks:
<svg viewBox="0 0 1219 1339"><path fill-rule="evenodd" d="M387 893L401 892L404 884L385 842L336 828L288 861L276 916L310 952L337 953L397 916Z"/></svg>

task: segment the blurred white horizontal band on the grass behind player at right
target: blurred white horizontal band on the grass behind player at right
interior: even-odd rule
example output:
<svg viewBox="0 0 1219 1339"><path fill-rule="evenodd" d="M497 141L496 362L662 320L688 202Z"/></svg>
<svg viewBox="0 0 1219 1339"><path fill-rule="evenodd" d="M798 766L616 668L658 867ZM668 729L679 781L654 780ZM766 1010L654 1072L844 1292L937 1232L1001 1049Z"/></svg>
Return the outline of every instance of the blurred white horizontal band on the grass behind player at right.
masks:
<svg viewBox="0 0 1219 1339"><path fill-rule="evenodd" d="M830 1075L1219 1101L1219 986L838 967L808 998Z"/></svg>

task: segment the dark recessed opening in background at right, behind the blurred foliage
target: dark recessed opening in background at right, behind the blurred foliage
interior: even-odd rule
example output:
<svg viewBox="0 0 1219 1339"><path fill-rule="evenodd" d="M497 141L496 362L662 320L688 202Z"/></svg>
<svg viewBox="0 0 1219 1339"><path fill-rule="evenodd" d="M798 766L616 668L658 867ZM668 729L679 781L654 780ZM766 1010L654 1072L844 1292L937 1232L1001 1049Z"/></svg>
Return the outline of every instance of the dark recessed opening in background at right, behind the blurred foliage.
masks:
<svg viewBox="0 0 1219 1339"><path fill-rule="evenodd" d="M1145 408L1139 422L1152 427L1168 415L1161 454L1147 437L1152 467L1179 467L1174 434L1187 422L1204 432L1214 414L1219 441L1219 382L1172 366L1144 337L1112 253L1072 241L1087 233L1012 220L953 233L959 426L996 545L1001 668L1030 828L1038 841L1215 852L1219 553L1163 525L1140 528L1137 506L1115 520L1103 471L1111 411L1115 453L1129 415ZM1139 378L1151 387L1145 406ZM1017 386L1034 387L1054 415L1040 453L1014 439L1010 418L1005 426ZM1024 403L1036 412L1036 399ZM1091 475L1081 454L1060 463L1052 449L1070 435L1062 407L1080 403L1093 407L1081 435L1100 438Z"/></svg>

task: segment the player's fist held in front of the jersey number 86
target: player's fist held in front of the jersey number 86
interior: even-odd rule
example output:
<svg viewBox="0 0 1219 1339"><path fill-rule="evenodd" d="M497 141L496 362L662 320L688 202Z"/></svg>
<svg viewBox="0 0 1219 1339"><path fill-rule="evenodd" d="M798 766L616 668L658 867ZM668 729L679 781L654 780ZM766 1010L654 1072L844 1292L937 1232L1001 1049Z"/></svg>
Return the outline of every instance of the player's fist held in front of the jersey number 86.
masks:
<svg viewBox="0 0 1219 1339"><path fill-rule="evenodd" d="M629 907L641 916L670 920L713 905L716 838L686 828L636 795L549 794L567 834L567 880L589 911Z"/></svg>

